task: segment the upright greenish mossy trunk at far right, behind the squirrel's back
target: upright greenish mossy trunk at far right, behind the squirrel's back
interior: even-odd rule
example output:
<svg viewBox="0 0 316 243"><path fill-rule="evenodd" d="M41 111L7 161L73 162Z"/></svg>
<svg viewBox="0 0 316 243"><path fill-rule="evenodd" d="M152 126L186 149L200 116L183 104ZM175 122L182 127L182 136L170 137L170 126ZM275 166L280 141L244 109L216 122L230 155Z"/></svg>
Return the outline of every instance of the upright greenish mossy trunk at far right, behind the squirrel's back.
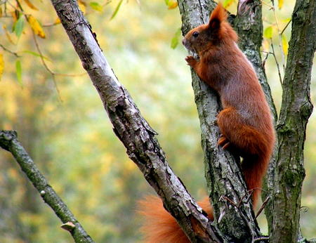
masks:
<svg viewBox="0 0 316 243"><path fill-rule="evenodd" d="M278 154L270 221L270 242L297 242L303 149L310 102L310 75L316 48L316 1L297 0L292 15L289 55L284 74L282 108L277 124Z"/></svg>

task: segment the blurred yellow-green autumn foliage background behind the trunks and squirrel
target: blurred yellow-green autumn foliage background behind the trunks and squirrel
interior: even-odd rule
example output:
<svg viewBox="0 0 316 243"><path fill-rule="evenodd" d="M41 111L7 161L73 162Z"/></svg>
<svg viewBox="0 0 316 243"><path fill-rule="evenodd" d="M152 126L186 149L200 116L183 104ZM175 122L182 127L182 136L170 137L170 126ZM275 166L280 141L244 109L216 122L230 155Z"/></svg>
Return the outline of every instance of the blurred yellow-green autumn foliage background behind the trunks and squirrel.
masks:
<svg viewBox="0 0 316 243"><path fill-rule="evenodd" d="M87 2L88 3L88 2ZM99 1L104 4L104 1ZM126 150L112 131L96 89L61 25L52 25L57 15L49 2L33 1L39 8L25 6L44 26L46 39L38 39L46 63L22 51L36 51L32 32L25 23L20 39L6 37L12 20L1 18L0 44L17 52L22 66L22 84L16 77L15 55L3 51L4 74L0 81L0 129L18 131L18 138L29 155L58 192L81 225L96 242L141 242L137 201L153 190L142 173L126 156ZM103 13L86 5L88 21L96 32L103 53L138 105L143 117L159 133L157 138L169 164L196 199L205 197L203 154L199 120L191 87L190 70L180 44L171 41L181 25L178 8L168 10L164 1L112 1ZM291 17L294 1L277 9L284 27ZM1 8L4 5L0 6ZM230 6L234 13L235 4ZM265 27L272 25L272 11L263 8ZM289 40L291 25L284 32ZM277 34L273 41L278 50ZM179 39L180 41L180 39ZM265 48L269 48L265 42ZM270 50L271 51L271 50ZM263 54L265 55L265 54ZM277 51L279 62L282 61ZM269 55L266 70L279 110L281 86L275 60ZM69 75L71 74L71 75ZM75 75L72 75L75 74ZM84 75L80 75L84 74ZM312 98L315 95L312 72ZM60 98L59 98L60 96ZM303 236L316 237L316 128L315 113L308 123L305 144L306 178L301 212ZM0 150L0 241L72 242L70 234L42 202L39 193L20 171L10 153ZM260 218L266 232L264 216Z"/></svg>

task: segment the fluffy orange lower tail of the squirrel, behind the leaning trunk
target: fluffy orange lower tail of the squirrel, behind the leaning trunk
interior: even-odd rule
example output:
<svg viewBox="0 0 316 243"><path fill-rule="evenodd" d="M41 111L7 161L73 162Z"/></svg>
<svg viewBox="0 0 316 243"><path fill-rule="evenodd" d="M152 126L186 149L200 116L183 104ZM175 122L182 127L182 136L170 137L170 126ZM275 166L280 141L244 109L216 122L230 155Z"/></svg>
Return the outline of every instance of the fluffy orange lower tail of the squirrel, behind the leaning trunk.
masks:
<svg viewBox="0 0 316 243"><path fill-rule="evenodd" d="M213 221L213 210L209 198L197 202ZM144 225L140 229L147 243L190 243L176 220L169 214L159 197L147 196L140 201L138 213L144 217Z"/></svg>

